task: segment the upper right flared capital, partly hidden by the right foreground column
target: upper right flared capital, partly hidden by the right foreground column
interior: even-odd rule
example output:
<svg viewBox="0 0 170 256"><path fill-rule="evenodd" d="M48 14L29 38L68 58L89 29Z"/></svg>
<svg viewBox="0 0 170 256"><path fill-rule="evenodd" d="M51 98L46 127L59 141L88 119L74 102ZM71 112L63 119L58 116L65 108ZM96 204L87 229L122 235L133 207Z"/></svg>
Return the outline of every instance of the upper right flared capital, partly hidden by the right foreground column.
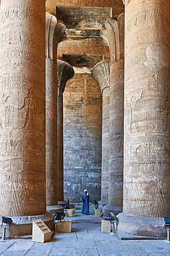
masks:
<svg viewBox="0 0 170 256"><path fill-rule="evenodd" d="M118 16L109 18L105 24L111 64L116 61L124 60L125 45L125 15L121 13Z"/></svg>

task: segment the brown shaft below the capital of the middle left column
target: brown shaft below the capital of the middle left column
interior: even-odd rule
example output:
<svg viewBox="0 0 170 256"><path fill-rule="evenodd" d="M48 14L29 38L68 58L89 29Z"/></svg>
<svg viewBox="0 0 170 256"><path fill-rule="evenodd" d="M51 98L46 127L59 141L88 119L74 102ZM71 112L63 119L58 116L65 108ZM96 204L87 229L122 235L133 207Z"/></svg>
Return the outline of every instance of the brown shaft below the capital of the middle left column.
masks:
<svg viewBox="0 0 170 256"><path fill-rule="evenodd" d="M57 198L57 86L56 62L46 58L46 201L56 205Z"/></svg>

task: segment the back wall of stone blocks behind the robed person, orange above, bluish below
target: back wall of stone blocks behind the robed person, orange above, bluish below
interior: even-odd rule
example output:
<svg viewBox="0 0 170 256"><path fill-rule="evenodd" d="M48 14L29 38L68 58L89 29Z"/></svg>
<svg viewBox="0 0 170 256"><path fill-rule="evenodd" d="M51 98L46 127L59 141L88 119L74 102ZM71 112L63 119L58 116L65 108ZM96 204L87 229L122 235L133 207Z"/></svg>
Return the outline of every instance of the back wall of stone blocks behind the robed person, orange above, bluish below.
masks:
<svg viewBox="0 0 170 256"><path fill-rule="evenodd" d="M100 199L102 95L91 74L76 74L64 95L64 193L78 201L83 190Z"/></svg>

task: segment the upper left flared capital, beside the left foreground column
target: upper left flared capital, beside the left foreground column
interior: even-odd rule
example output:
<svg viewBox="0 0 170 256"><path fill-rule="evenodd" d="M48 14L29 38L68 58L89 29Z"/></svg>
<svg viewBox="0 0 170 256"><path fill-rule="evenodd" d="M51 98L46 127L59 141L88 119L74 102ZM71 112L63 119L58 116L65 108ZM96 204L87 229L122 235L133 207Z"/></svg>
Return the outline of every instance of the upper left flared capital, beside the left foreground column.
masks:
<svg viewBox="0 0 170 256"><path fill-rule="evenodd" d="M63 21L57 20L49 12L45 14L45 56L50 60L56 60L57 46L63 42L67 35Z"/></svg>

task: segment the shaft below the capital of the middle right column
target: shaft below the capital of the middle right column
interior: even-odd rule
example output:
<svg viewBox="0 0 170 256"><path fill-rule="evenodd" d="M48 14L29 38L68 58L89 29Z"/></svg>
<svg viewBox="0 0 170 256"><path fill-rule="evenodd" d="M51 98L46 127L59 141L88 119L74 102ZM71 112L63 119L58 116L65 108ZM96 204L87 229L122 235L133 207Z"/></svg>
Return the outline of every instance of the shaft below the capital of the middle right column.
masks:
<svg viewBox="0 0 170 256"><path fill-rule="evenodd" d="M110 68L109 205L123 206L124 61Z"/></svg>

